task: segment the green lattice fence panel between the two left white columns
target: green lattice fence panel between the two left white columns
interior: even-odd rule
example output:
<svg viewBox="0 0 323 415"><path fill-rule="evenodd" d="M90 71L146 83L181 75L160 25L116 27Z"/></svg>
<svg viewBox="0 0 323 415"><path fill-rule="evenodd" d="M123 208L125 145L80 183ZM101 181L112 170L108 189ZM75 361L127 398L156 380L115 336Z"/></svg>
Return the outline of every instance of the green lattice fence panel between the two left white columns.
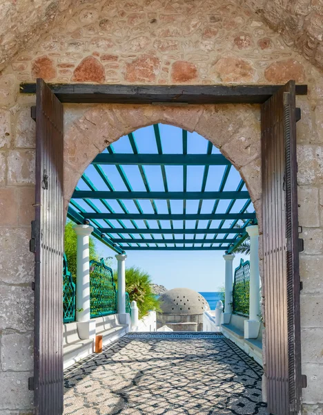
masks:
<svg viewBox="0 0 323 415"><path fill-rule="evenodd" d="M90 261L90 309L91 318L117 313L117 289L112 269L104 259Z"/></svg>

